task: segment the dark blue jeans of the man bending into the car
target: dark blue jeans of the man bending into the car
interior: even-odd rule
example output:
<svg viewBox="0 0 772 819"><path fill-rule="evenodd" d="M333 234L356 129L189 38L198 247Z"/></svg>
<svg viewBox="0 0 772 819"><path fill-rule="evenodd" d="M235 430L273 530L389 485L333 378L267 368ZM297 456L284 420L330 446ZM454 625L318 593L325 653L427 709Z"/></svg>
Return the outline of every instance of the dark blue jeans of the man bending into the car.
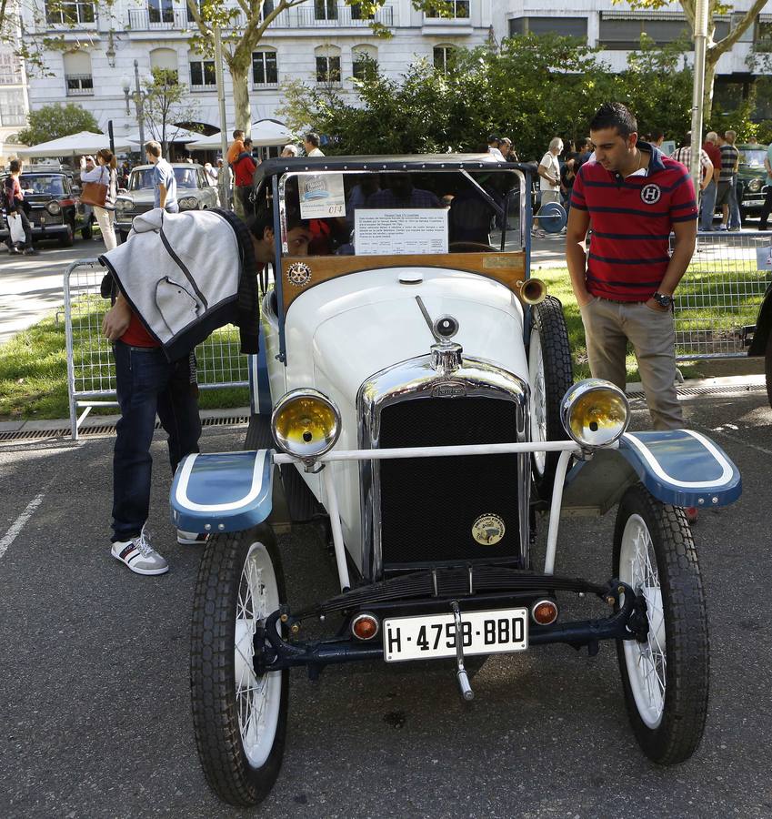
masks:
<svg viewBox="0 0 772 819"><path fill-rule="evenodd" d="M198 451L201 419L189 359L169 363L160 348L115 342L115 379L121 418L113 450L113 541L136 537L150 513L150 444L155 413L168 433L172 472Z"/></svg>

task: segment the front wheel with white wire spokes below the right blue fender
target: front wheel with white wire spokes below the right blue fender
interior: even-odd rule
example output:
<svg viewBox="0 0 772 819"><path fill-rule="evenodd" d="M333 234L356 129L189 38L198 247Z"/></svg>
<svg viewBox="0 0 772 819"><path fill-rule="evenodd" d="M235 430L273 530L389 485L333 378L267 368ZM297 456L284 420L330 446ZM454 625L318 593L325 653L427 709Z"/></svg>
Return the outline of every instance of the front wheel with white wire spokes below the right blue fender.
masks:
<svg viewBox="0 0 772 819"><path fill-rule="evenodd" d="M636 568L644 551L648 571L640 563ZM636 591L647 590L647 641L617 640L633 732L649 759L661 765L682 763L702 740L709 672L705 592L684 511L657 501L640 483L630 487L617 511L613 571ZM659 683L651 685L647 679L653 694L643 687L647 669Z"/></svg>

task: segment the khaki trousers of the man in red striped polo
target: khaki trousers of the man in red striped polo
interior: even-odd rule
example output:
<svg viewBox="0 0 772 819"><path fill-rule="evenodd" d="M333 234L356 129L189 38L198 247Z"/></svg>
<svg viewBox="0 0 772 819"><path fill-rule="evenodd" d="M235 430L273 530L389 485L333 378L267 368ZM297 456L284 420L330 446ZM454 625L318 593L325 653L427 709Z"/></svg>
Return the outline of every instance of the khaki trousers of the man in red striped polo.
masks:
<svg viewBox="0 0 772 819"><path fill-rule="evenodd" d="M684 416L676 394L676 332L671 310L645 302L593 297L581 309L593 378L625 389L627 341L633 345L655 430L677 430Z"/></svg>

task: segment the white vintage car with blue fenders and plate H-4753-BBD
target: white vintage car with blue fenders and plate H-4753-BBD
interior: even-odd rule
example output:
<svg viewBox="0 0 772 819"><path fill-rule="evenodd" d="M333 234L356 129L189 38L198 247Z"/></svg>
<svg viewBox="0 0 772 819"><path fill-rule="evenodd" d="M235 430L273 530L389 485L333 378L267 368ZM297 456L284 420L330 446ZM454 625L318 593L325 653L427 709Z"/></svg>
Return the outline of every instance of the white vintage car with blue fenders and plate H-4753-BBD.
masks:
<svg viewBox="0 0 772 819"><path fill-rule="evenodd" d="M226 802L274 784L296 666L316 678L330 663L450 658L468 702L488 654L564 642L593 655L613 640L644 753L674 764L700 743L707 619L682 507L735 501L740 476L703 434L629 432L620 389L572 383L561 304L528 275L533 171L490 155L260 166L275 258L246 450L188 456L171 490L175 525L210 534L191 692ZM336 557L340 590L300 609L275 481L293 521L326 521ZM610 547L608 575L556 573L561 512L614 508L612 543L571 543Z"/></svg>

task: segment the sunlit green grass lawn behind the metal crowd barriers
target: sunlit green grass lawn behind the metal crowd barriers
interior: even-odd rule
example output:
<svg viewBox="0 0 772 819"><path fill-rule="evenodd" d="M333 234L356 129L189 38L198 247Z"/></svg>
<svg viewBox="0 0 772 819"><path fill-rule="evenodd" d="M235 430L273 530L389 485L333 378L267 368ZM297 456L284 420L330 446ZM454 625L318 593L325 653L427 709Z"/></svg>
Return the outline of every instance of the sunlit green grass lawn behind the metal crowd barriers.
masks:
<svg viewBox="0 0 772 819"><path fill-rule="evenodd" d="M700 345L720 342L727 350L742 349L739 329L756 321L758 304L767 285L748 261L699 262L689 268L678 288L677 349L704 351ZM587 378L587 347L582 319L571 290L566 268L538 270L547 292L563 303L576 379ZM79 298L73 308L75 385L111 392L115 389L112 357L101 339L106 302L98 296ZM199 383L246 381L246 358L238 355L234 328L217 330L197 350ZM0 346L0 420L58 419L69 416L65 324L43 319ZM681 364L686 378L706 374L706 364ZM627 379L636 381L636 359L627 356ZM105 395L103 400L112 399ZM249 403L246 388L202 389L202 409L243 407ZM116 408L93 410L115 413Z"/></svg>

